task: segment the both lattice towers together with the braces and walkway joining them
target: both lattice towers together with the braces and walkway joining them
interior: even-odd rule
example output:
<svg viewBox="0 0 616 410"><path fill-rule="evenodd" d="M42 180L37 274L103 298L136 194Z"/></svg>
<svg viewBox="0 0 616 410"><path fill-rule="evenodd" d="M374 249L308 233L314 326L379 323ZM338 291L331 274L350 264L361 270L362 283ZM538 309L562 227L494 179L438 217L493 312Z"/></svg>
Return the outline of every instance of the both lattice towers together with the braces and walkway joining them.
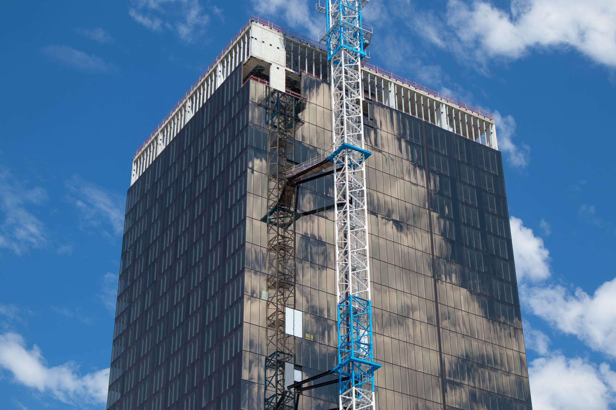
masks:
<svg viewBox="0 0 616 410"><path fill-rule="evenodd" d="M370 267L368 263L368 210L362 112L361 62L371 30L362 24L368 0L326 0L317 10L326 15L323 40L330 63L333 145L305 163L294 161L295 131L302 124L305 103L266 87L260 104L269 126L267 214L267 356L265 358L265 410L298 407L302 391L336 382L304 385L330 374L338 376L339 410L375 409ZM330 371L301 382L293 381L294 337L286 329L288 310L295 307L295 222L298 187L302 182L330 174L333 165L336 251L338 364Z"/></svg>

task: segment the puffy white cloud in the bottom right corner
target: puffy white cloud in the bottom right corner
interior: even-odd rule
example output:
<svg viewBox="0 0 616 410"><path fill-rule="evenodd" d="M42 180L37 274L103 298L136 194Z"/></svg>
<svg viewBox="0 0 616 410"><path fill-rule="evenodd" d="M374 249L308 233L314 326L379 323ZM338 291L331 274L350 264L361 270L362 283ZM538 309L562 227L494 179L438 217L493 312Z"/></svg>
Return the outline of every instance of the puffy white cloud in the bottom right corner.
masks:
<svg viewBox="0 0 616 410"><path fill-rule="evenodd" d="M529 364L530 394L535 410L605 410L616 404L616 373L561 353Z"/></svg>

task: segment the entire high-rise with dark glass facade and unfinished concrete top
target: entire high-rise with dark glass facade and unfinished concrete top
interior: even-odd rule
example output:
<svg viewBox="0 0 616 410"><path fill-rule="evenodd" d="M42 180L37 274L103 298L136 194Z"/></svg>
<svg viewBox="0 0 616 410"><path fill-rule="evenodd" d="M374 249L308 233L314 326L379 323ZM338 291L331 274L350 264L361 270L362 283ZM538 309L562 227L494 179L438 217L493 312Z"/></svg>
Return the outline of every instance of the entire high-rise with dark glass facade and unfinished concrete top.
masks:
<svg viewBox="0 0 616 410"><path fill-rule="evenodd" d="M251 17L137 150L107 409L532 408L492 116L323 39Z"/></svg>

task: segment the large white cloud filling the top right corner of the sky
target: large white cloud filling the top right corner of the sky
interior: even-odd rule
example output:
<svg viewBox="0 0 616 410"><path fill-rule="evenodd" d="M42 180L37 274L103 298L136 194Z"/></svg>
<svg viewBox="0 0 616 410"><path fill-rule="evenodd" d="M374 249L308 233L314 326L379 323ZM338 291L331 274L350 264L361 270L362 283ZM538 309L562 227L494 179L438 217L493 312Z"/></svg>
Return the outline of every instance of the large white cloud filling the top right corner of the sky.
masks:
<svg viewBox="0 0 616 410"><path fill-rule="evenodd" d="M509 10L479 0L450 0L449 8L460 57L485 62L521 58L533 49L571 48L616 66L613 0L513 0Z"/></svg>

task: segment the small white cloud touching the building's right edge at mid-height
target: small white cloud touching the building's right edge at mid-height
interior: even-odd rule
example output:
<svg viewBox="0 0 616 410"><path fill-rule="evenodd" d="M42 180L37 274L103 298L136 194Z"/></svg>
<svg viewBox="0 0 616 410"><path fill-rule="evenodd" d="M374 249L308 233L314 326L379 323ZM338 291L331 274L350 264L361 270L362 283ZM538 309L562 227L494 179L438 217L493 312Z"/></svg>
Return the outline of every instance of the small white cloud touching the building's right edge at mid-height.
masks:
<svg viewBox="0 0 616 410"><path fill-rule="evenodd" d="M509 219L511 240L516 261L517 281L537 282L550 276L549 251L543 239L537 238L533 230L524 226L521 219Z"/></svg>

